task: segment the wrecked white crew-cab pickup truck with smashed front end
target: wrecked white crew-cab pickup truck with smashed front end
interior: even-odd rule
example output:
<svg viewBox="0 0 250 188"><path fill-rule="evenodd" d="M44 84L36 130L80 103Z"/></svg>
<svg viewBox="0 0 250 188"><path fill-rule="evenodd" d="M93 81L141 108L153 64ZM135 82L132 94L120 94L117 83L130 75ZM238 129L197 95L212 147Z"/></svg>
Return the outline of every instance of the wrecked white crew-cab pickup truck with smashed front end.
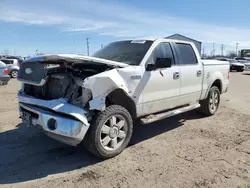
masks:
<svg viewBox="0 0 250 188"><path fill-rule="evenodd" d="M21 64L20 116L50 137L100 158L128 145L133 122L199 109L213 115L229 84L229 63L201 60L190 42L114 42L93 57L49 55Z"/></svg>

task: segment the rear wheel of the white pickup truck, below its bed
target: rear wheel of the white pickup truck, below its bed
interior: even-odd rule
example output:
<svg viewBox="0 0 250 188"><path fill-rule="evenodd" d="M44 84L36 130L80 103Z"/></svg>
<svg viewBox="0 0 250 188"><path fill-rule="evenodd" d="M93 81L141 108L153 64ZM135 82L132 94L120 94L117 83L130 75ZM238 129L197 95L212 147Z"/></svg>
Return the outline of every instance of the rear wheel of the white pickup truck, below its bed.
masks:
<svg viewBox="0 0 250 188"><path fill-rule="evenodd" d="M214 115L220 105L220 91L218 87L211 87L207 98L200 101L200 105L199 111L201 113L208 116Z"/></svg>

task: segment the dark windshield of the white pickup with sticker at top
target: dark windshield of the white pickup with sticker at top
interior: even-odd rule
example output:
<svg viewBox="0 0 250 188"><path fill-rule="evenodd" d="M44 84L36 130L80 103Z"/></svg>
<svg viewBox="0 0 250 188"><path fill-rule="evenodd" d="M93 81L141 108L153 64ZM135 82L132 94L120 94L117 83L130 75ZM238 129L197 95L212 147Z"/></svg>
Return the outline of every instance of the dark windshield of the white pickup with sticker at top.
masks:
<svg viewBox="0 0 250 188"><path fill-rule="evenodd" d="M139 65L152 43L146 40L113 42L97 51L93 57Z"/></svg>

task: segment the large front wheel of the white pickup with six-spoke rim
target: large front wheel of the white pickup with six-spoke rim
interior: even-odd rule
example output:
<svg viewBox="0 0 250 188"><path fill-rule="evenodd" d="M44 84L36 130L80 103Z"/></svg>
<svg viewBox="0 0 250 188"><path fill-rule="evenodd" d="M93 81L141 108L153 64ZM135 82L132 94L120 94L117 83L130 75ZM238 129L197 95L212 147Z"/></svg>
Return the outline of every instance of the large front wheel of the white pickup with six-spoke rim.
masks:
<svg viewBox="0 0 250 188"><path fill-rule="evenodd" d="M108 159L120 154L133 132L133 120L122 106L112 105L93 119L84 138L84 145L95 156Z"/></svg>

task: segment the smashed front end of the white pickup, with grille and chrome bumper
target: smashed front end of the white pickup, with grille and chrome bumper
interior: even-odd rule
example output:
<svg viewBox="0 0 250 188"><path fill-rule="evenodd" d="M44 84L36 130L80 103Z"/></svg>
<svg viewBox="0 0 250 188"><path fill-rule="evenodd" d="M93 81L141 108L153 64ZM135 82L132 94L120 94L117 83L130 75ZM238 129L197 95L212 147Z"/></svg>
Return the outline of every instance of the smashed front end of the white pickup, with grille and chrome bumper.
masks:
<svg viewBox="0 0 250 188"><path fill-rule="evenodd" d="M89 58L43 56L23 62L18 75L23 83L18 93L23 122L42 127L63 143L79 144L93 116L92 93L84 80L115 67Z"/></svg>

